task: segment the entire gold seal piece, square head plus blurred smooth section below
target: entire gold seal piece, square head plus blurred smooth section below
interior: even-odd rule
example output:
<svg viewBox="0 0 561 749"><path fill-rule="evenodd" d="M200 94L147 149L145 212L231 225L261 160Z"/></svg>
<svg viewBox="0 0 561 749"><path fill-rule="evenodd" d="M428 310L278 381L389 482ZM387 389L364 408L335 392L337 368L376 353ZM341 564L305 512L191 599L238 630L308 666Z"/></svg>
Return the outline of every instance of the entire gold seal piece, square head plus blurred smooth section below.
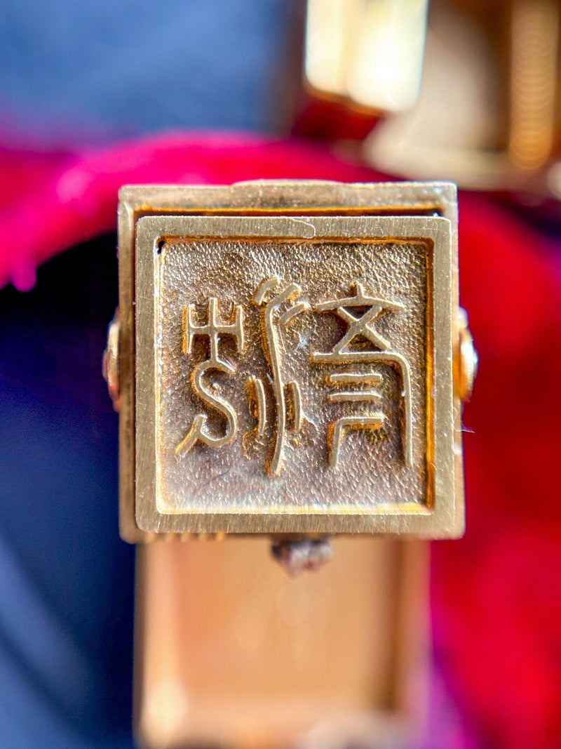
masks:
<svg viewBox="0 0 561 749"><path fill-rule="evenodd" d="M171 541L138 549L138 741L403 745L428 550L396 534L464 527L456 187L124 187L119 276L120 530ZM263 533L291 573L361 536L294 580Z"/></svg>

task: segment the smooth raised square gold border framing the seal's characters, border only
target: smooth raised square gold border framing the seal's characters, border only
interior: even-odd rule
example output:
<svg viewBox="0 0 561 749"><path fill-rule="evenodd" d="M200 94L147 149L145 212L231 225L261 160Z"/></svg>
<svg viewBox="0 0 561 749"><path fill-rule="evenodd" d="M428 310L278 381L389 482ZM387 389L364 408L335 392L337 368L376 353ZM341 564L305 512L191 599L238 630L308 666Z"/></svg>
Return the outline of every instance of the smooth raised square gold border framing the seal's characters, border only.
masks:
<svg viewBox="0 0 561 749"><path fill-rule="evenodd" d="M427 452L432 456L427 505L393 504L344 511L314 506L260 512L200 512L162 515L156 511L156 360L154 352L156 269L160 240L266 239L424 240L432 258L432 395L427 404ZM138 222L136 254L136 522L141 530L189 533L416 533L429 536L456 532L453 431L453 311L450 221L440 217L374 218L373 216L283 217L144 217Z"/></svg>

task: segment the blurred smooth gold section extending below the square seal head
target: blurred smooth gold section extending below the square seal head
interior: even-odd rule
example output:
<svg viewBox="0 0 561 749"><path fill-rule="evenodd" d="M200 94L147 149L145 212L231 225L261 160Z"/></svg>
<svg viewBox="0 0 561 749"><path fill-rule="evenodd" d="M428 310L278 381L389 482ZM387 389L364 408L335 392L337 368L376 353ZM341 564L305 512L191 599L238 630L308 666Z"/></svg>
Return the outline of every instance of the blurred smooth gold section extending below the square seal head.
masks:
<svg viewBox="0 0 561 749"><path fill-rule="evenodd" d="M293 579L266 539L138 549L141 746L416 745L430 699L428 546L338 539Z"/></svg>

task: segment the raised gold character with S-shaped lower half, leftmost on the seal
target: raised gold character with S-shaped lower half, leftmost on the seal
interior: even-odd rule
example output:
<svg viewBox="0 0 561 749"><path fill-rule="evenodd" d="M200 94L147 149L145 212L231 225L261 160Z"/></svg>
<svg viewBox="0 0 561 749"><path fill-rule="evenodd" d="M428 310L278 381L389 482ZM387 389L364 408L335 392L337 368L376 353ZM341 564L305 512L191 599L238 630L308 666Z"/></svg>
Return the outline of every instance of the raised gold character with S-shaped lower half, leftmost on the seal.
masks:
<svg viewBox="0 0 561 749"><path fill-rule="evenodd" d="M183 354L191 354L193 340L196 336L209 339L209 357L197 364L191 375L191 386L194 392L203 400L209 408L212 408L226 420L224 434L215 437L206 431L206 413L198 413L194 417L191 428L186 437L177 445L176 454L186 455L191 447L197 442L202 442L211 447L222 447L231 443L236 438L237 419L236 411L232 405L221 398L218 394L218 386L212 381L206 383L204 375L215 370L227 375L236 372L229 362L220 357L219 344L222 336L230 336L236 342L236 351L244 350L243 310L237 305L233 308L232 321L230 323L218 322L218 299L209 297L207 320L204 324L194 321L194 305L189 304L183 310Z"/></svg>

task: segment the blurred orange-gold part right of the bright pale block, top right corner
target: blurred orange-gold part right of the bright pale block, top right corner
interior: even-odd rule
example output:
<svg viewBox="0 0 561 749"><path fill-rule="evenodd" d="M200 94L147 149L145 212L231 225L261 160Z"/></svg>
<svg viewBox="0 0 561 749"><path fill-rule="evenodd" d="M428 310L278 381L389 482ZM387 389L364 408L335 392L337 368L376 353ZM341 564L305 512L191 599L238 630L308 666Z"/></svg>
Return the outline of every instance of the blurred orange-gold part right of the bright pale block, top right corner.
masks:
<svg viewBox="0 0 561 749"><path fill-rule="evenodd" d="M373 130L378 169L461 187L551 192L560 147L560 2L431 4L423 85Z"/></svg>

